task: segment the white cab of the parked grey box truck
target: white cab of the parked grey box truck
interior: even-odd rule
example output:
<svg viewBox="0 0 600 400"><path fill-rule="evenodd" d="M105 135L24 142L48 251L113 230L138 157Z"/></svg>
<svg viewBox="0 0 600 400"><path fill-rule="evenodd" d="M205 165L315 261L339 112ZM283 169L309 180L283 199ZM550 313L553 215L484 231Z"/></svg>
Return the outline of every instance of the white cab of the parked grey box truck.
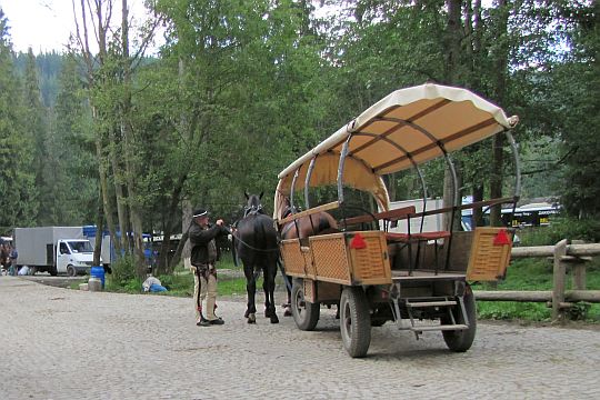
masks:
<svg viewBox="0 0 600 400"><path fill-rule="evenodd" d="M61 239L56 247L57 272L74 277L93 264L93 248L88 239Z"/></svg>

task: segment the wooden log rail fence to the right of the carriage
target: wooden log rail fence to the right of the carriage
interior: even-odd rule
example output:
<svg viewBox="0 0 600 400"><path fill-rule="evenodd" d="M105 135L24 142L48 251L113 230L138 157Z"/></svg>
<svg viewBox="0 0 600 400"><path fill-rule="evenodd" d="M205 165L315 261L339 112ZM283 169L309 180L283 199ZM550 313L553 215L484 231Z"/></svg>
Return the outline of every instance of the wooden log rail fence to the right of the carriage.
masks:
<svg viewBox="0 0 600 400"><path fill-rule="evenodd" d="M548 291L476 291L477 300L546 302L552 307L552 319L564 318L564 311L578 301L600 302L600 290L587 290L586 262L600 256L600 243L568 244L567 239L556 246L513 248L511 258L551 257L553 259L553 289ZM566 290L567 270L571 267L572 290ZM510 273L510 270L509 270Z"/></svg>

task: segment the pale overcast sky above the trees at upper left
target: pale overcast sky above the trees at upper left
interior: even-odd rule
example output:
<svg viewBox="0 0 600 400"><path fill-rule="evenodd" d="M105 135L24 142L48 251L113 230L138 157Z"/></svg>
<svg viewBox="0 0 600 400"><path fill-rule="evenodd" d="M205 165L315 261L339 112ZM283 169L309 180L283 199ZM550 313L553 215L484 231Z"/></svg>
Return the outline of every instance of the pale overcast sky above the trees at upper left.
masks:
<svg viewBox="0 0 600 400"><path fill-rule="evenodd" d="M143 10L142 0L130 0L130 13ZM79 4L79 1L78 1ZM120 1L116 2L120 10ZM14 51L63 51L74 30L71 0L0 0L9 22ZM120 18L120 17L116 17ZM116 19L117 21L117 19Z"/></svg>

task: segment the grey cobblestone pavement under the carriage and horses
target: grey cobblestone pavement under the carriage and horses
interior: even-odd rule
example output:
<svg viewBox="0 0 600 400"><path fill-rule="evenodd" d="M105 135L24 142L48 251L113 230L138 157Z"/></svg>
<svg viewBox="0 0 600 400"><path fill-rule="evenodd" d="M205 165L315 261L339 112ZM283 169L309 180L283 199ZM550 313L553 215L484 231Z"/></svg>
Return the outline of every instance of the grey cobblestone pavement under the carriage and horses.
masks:
<svg viewBox="0 0 600 400"><path fill-rule="evenodd" d="M303 332L244 308L220 301L226 324L199 328L191 299L0 277L0 399L600 399L598 331L480 322L452 353L387 323L351 359L333 310Z"/></svg>

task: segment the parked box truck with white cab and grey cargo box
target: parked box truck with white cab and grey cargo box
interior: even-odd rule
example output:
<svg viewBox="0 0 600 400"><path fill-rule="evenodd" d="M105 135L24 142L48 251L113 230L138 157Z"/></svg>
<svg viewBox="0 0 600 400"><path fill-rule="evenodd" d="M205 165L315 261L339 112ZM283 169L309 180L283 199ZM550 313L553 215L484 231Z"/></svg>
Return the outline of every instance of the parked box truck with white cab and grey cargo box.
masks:
<svg viewBox="0 0 600 400"><path fill-rule="evenodd" d="M14 228L13 240L17 266L29 266L33 272L74 277L93 264L93 246L81 227Z"/></svg>

